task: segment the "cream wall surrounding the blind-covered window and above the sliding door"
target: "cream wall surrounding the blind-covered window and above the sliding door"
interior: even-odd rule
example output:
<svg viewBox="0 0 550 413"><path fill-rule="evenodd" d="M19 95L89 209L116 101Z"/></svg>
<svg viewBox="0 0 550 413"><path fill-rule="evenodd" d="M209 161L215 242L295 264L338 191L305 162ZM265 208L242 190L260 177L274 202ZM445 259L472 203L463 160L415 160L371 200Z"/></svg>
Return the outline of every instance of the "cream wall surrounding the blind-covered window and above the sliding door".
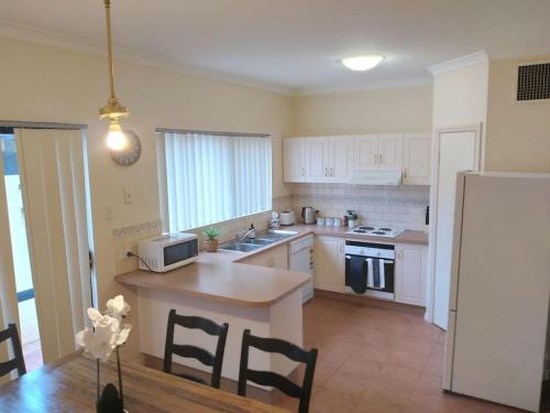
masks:
<svg viewBox="0 0 550 413"><path fill-rule="evenodd" d="M108 97L106 58L0 37L0 119L88 124L88 155L96 269L101 303L122 289L113 282L116 229L160 218L156 127L261 132L273 137L273 193L286 194L280 137L289 133L289 97L180 72L116 62L117 91L132 111L124 127L142 140L131 167L116 165L106 151L107 123L98 109ZM133 197L123 203L123 188ZM113 218L106 217L112 208ZM129 291L125 292L130 294Z"/></svg>

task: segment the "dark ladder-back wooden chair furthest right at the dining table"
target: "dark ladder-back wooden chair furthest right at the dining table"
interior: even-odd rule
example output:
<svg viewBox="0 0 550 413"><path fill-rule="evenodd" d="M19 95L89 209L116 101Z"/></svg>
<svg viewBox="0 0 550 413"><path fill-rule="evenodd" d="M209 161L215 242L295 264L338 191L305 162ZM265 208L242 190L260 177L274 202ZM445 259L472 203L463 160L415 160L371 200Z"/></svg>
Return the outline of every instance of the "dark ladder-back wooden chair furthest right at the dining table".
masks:
<svg viewBox="0 0 550 413"><path fill-rule="evenodd" d="M288 357L290 360L306 363L306 374L301 387L294 383L286 377L272 371L258 371L249 369L249 349L257 348L266 352L278 352ZM241 366L239 371L239 395L246 395L246 381L250 380L256 384L271 385L277 388L285 394L300 400L298 412L306 413L309 410L311 399L311 389L314 385L315 365L317 361L317 349L306 351L298 346L278 339L262 338L250 334L245 329L242 336Z"/></svg>

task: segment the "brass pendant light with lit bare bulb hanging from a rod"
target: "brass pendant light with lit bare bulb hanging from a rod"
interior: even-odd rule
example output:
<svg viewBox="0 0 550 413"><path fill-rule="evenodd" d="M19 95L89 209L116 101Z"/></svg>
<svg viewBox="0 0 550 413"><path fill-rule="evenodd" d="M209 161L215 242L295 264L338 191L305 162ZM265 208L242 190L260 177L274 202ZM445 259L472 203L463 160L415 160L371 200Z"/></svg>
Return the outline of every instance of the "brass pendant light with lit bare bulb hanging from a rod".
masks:
<svg viewBox="0 0 550 413"><path fill-rule="evenodd" d="M107 105L99 109L99 119L109 119L109 132L107 133L107 148L121 151L127 148L128 139L122 132L119 118L130 115L125 106L119 102L114 95L114 65L112 62L112 36L111 36L111 0L105 0L105 12L107 21L107 58L109 63L109 88L110 95Z"/></svg>

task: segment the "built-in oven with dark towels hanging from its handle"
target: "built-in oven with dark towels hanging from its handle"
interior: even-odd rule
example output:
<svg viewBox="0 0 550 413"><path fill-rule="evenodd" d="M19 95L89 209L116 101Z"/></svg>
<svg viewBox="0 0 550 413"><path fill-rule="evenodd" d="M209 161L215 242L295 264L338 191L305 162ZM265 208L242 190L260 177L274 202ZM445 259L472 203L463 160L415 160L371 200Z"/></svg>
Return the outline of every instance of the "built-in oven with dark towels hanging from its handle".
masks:
<svg viewBox="0 0 550 413"><path fill-rule="evenodd" d="M395 300L395 246L345 241L345 291Z"/></svg>

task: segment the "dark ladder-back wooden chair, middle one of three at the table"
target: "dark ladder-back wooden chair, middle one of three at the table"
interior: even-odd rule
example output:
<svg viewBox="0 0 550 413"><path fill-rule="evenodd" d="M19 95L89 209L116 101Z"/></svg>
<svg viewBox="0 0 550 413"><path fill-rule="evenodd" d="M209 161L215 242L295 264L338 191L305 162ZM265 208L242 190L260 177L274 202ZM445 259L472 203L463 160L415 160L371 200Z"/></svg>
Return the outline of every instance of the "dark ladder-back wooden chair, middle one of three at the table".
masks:
<svg viewBox="0 0 550 413"><path fill-rule="evenodd" d="M218 346L216 348L216 355L209 351L188 345L177 345L174 344L174 327L178 325L186 328L198 328L202 332L211 335L218 336ZM164 371L172 373L184 379L193 380L198 383L207 384L208 382L185 373L173 373L172 372L172 356L177 355L180 357L188 357L199 360L206 366L212 367L212 376L210 380L210 387L219 389L221 379L221 367L223 363L223 352L226 351L226 339L228 338L229 324L218 325L215 322L196 316L184 316L176 314L175 309L170 309L168 315L168 328L166 330L166 346L164 348Z"/></svg>

